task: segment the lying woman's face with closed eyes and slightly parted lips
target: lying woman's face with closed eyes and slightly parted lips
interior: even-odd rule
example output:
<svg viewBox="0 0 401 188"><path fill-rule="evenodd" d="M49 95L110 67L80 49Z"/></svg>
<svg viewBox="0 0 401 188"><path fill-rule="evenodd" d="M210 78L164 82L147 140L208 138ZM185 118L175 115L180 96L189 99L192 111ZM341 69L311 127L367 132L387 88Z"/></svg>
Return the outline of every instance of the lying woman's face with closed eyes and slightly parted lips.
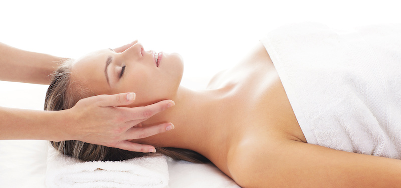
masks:
<svg viewBox="0 0 401 188"><path fill-rule="evenodd" d="M72 65L71 79L96 95L135 92L133 106L174 98L183 73L181 56L145 51L140 43L122 53L90 53Z"/></svg>

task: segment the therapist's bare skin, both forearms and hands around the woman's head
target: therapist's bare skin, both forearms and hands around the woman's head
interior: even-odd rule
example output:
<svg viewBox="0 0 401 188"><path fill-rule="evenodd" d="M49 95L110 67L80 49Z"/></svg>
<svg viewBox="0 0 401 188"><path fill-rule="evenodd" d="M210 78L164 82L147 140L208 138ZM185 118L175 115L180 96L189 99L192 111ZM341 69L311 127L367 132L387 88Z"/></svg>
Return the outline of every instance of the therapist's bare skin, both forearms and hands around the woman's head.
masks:
<svg viewBox="0 0 401 188"><path fill-rule="evenodd" d="M135 43L114 51L122 52ZM0 43L0 80L49 84L48 75L62 59ZM151 145L127 140L174 128L169 122L140 127L140 122L174 106L174 102L163 100L136 108L121 107L134 103L135 96L130 92L89 97L78 101L73 108L61 111L0 107L0 139L81 140L130 151L155 152Z"/></svg>

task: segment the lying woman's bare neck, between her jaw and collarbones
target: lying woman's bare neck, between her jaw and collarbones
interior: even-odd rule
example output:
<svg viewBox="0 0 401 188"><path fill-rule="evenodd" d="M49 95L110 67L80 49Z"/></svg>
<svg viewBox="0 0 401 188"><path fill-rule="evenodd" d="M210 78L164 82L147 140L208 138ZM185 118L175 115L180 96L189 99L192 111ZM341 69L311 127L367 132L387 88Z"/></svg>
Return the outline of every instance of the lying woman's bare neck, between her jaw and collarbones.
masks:
<svg viewBox="0 0 401 188"><path fill-rule="evenodd" d="M222 111L227 111L224 99L228 93L227 88L192 91L180 86L172 99L174 107L143 122L144 126L171 122L175 128L141 139L139 143L190 149L210 160L213 160L212 154L227 153L224 150L229 148L229 132L224 125L231 118Z"/></svg>

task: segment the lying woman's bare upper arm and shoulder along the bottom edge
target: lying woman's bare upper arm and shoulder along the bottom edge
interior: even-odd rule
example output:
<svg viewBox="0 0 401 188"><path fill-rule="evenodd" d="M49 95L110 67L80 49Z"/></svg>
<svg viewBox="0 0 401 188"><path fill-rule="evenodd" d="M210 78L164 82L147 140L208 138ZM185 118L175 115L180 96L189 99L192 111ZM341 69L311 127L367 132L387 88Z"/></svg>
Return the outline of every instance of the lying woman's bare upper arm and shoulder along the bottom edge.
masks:
<svg viewBox="0 0 401 188"><path fill-rule="evenodd" d="M395 187L401 185L401 160L284 141L250 149L237 174L244 187ZM243 154L244 155L244 154ZM245 161L244 161L245 160ZM237 160L238 161L238 160ZM241 164L241 162L239 162Z"/></svg>

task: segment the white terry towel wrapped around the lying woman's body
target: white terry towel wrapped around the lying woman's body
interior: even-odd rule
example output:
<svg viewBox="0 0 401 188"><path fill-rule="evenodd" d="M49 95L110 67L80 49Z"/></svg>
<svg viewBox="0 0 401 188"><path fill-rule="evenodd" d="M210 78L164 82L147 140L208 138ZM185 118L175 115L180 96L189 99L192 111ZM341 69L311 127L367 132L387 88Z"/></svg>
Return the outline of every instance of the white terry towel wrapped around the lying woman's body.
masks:
<svg viewBox="0 0 401 188"><path fill-rule="evenodd" d="M308 143L401 159L401 24L300 23L261 42Z"/></svg>

